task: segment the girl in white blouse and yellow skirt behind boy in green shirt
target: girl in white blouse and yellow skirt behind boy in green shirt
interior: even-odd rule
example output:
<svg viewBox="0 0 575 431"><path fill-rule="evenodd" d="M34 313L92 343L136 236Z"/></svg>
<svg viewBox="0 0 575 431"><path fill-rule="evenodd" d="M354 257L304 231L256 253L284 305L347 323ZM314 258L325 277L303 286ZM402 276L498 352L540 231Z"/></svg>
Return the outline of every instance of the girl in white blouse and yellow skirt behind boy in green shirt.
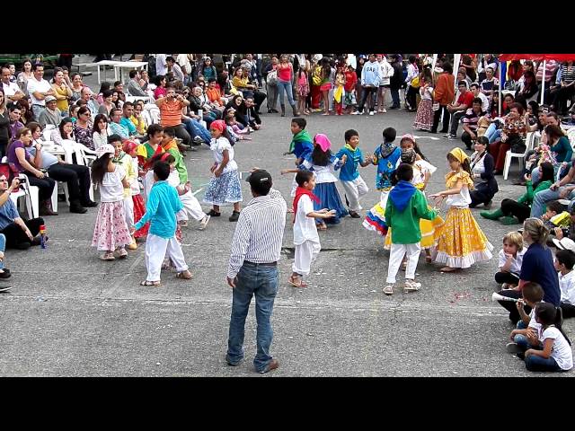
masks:
<svg viewBox="0 0 575 431"><path fill-rule="evenodd" d="M400 142L400 145L402 146L402 163L411 164L413 167L413 179L411 180L411 184L425 194L425 188L428 185L429 178L431 178L431 174L436 172L438 168L422 159L420 154L417 154L409 145L404 145L404 140L405 137L403 136L402 141ZM407 140L405 140L405 142L407 142ZM410 142L412 143L413 141ZM419 160L417 160L418 158ZM438 233L442 225L443 219L440 216L437 216L433 220L420 219L420 245L421 248L425 250L425 261L428 263L431 262L431 249L437 243ZM391 231L391 228L389 231ZM392 237L389 231L385 236L385 250L390 250L392 244Z"/></svg>

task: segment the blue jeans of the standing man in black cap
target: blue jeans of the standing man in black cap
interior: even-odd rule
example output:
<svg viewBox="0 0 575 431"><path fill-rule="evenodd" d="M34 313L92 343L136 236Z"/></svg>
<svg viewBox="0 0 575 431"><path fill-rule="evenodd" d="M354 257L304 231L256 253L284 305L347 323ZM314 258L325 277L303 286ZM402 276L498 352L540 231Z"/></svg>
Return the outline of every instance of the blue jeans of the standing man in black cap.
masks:
<svg viewBox="0 0 575 431"><path fill-rule="evenodd" d="M248 315L253 295L255 295L255 317L258 323L256 332L257 354L253 359L253 365L255 365L256 371L261 373L270 364L272 358L270 356L270 344L271 339L273 339L270 320L273 302L278 293L278 284L278 267L264 267L243 262L243 266L235 278L235 287L232 290L232 317L226 355L229 364L236 365L243 359L245 318Z"/></svg>

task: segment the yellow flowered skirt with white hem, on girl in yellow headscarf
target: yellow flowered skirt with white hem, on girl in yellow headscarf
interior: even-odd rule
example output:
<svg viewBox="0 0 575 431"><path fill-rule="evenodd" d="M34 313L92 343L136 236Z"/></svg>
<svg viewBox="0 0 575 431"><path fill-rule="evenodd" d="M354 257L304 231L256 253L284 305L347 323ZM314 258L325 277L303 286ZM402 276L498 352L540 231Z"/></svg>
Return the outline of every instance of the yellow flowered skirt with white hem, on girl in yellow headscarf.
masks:
<svg viewBox="0 0 575 431"><path fill-rule="evenodd" d="M474 263L491 259L492 250L493 246L470 209L450 207L431 256L434 261L451 268L469 268Z"/></svg>

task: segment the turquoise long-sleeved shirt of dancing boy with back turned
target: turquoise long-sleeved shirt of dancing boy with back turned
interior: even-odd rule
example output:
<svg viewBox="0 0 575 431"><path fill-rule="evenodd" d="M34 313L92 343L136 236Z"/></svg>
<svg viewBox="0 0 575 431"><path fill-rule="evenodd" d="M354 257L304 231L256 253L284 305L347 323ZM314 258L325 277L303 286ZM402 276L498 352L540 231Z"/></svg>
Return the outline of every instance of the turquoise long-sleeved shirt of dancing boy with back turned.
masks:
<svg viewBox="0 0 575 431"><path fill-rule="evenodd" d="M176 233L176 213L182 208L176 189L168 184L168 181L158 181L150 190L146 214L137 222L136 230L150 221L149 233L169 240Z"/></svg>

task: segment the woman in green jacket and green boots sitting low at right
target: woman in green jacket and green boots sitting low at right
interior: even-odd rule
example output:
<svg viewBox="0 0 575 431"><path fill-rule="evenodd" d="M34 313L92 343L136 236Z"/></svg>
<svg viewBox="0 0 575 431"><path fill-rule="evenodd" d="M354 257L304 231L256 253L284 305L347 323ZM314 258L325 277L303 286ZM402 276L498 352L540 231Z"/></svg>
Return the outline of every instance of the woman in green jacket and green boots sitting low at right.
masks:
<svg viewBox="0 0 575 431"><path fill-rule="evenodd" d="M540 181L536 189L533 189L533 181L531 175L525 174L526 179L526 192L521 195L517 200L505 198L501 201L501 207L495 211L488 213L482 211L480 215L491 220L500 220L502 224L521 224L531 213L531 204L537 193L549 189L553 184L553 164L549 162L542 163L539 168L541 170ZM503 218L501 218L503 217Z"/></svg>

